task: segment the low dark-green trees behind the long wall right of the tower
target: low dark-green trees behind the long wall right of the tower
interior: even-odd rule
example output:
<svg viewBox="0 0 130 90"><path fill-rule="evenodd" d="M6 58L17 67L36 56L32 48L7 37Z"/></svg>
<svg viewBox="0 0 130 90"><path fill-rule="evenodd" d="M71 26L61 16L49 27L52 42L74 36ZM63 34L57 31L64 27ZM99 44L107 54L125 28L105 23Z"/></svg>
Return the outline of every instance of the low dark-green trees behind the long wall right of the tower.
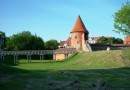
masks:
<svg viewBox="0 0 130 90"><path fill-rule="evenodd" d="M97 43L98 44L122 44L123 43L123 40L121 38L114 38L114 37L100 37L98 40L97 40Z"/></svg>

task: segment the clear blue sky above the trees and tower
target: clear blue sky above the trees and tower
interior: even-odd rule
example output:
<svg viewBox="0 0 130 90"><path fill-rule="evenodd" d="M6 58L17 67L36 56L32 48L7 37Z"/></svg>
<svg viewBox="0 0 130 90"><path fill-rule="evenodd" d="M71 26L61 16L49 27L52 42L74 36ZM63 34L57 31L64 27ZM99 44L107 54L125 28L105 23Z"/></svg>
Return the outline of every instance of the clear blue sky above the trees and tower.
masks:
<svg viewBox="0 0 130 90"><path fill-rule="evenodd" d="M66 40L80 15L90 37L124 39L114 30L113 15L126 0L0 0L0 31L12 36L22 31L44 41Z"/></svg>

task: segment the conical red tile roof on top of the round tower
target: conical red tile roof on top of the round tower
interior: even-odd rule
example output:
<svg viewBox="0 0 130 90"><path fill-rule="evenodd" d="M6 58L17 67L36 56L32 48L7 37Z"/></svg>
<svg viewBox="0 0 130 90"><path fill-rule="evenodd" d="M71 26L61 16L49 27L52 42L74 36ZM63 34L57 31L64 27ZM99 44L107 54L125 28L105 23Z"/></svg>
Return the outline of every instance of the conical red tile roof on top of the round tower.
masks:
<svg viewBox="0 0 130 90"><path fill-rule="evenodd" d="M84 33L88 33L87 29L85 28L82 19L80 18L80 16L78 16L76 23L73 27L73 29L71 30L71 33L73 32L84 32Z"/></svg>

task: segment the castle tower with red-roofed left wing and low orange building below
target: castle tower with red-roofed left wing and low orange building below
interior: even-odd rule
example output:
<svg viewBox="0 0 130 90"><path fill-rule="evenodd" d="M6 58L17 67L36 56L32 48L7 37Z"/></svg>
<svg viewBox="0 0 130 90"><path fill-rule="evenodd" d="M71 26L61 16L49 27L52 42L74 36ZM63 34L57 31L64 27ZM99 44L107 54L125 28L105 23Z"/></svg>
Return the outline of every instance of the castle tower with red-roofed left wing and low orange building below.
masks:
<svg viewBox="0 0 130 90"><path fill-rule="evenodd" d="M78 16L74 27L70 31L71 37L69 37L66 41L60 41L60 48L56 51L91 51L91 47L89 46L87 40L89 32L86 29L82 19ZM53 55L54 60L63 60L72 54L55 54Z"/></svg>

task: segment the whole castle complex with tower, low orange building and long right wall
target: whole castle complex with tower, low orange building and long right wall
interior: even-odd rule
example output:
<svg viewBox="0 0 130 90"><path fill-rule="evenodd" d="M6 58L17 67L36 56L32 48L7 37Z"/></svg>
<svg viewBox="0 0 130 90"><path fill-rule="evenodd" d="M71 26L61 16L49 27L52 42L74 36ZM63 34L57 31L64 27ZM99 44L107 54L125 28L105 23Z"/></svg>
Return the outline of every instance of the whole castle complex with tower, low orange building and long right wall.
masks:
<svg viewBox="0 0 130 90"><path fill-rule="evenodd" d="M130 47L130 37L126 37L124 44L95 44L100 37L89 37L89 32L86 29L82 19L78 16L72 30L70 31L71 36L66 41L60 41L60 48L57 51L69 51L77 50L80 51L92 51L92 50L118 50ZM109 37L107 37L109 38ZM55 54L55 60L63 60L71 54Z"/></svg>

